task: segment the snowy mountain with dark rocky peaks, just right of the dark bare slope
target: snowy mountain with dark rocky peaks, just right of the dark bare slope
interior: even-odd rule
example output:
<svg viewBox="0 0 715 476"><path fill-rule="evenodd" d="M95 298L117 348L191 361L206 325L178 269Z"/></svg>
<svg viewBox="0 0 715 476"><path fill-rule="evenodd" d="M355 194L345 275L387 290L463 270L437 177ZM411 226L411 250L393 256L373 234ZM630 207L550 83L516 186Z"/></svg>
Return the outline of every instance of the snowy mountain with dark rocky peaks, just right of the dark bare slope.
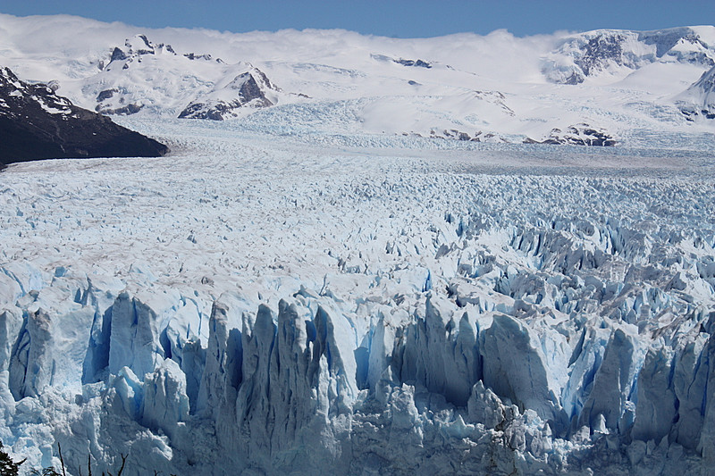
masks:
<svg viewBox="0 0 715 476"><path fill-rule="evenodd" d="M211 54L179 54L142 34L115 46L98 68L82 81L81 91L95 97L95 110L104 114L130 115L146 107L155 115L175 117L181 111L181 118L223 120L237 116L240 107L277 104L280 92L249 64L229 66Z"/></svg>

